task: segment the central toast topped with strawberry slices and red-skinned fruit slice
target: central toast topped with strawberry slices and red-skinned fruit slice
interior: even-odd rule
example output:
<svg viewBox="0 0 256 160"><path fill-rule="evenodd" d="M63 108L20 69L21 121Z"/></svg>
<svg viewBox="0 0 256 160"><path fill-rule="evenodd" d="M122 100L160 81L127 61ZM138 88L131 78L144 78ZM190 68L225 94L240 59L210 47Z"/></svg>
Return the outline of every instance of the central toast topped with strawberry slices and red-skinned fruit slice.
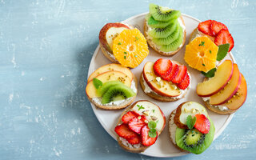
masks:
<svg viewBox="0 0 256 160"><path fill-rule="evenodd" d="M145 94L161 102L184 98L190 88L190 81L191 76L186 66L163 58L156 62L146 62L140 78Z"/></svg>

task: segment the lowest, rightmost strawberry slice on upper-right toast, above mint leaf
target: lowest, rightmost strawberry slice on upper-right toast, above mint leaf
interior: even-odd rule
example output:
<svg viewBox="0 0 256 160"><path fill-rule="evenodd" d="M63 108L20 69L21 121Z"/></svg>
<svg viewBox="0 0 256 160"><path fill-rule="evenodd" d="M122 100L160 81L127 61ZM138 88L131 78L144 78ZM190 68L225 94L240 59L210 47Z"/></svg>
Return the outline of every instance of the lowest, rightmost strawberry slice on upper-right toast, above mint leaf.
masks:
<svg viewBox="0 0 256 160"><path fill-rule="evenodd" d="M217 36L215 37L214 43L217 46L230 43L230 50L232 50L232 48L234 47L234 39L230 34L229 30L225 30L225 29L222 29L218 32Z"/></svg>

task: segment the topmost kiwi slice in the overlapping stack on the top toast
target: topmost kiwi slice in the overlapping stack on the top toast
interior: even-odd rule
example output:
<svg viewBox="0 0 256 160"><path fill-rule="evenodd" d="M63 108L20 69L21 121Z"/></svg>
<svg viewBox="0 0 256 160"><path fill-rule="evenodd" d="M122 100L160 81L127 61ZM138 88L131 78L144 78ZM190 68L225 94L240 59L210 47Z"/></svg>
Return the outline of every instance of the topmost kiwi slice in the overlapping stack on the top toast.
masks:
<svg viewBox="0 0 256 160"><path fill-rule="evenodd" d="M171 10L165 6L158 6L155 4L150 4L150 14L157 21L168 22L171 19L177 19L181 16L179 10Z"/></svg>

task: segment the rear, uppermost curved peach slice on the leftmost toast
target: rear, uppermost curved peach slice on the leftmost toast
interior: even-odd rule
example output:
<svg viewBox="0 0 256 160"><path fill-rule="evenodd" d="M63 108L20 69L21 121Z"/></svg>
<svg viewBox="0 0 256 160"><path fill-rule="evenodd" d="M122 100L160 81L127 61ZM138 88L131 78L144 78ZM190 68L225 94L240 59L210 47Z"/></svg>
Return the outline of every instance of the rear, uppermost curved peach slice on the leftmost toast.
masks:
<svg viewBox="0 0 256 160"><path fill-rule="evenodd" d="M111 64L101 66L97 70L95 70L94 73L90 74L90 77L88 78L87 82L90 82L93 78L95 78L99 74L102 74L107 71L112 71L112 70L120 71L120 72L126 74L130 79L133 79L133 74L127 67L122 66L120 64L111 63Z"/></svg>

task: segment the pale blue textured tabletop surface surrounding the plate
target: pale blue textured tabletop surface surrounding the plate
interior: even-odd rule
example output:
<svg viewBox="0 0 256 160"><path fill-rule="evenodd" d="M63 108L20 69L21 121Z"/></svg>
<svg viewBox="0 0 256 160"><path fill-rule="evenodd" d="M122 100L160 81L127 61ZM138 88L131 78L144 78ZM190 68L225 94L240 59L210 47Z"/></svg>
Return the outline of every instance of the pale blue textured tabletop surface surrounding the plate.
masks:
<svg viewBox="0 0 256 160"><path fill-rule="evenodd" d="M156 2L156 1L154 1ZM149 1L0 1L0 159L150 159L102 128L85 87L98 32L148 11ZM158 1L229 27L247 101L206 152L173 159L256 156L256 1Z"/></svg>

